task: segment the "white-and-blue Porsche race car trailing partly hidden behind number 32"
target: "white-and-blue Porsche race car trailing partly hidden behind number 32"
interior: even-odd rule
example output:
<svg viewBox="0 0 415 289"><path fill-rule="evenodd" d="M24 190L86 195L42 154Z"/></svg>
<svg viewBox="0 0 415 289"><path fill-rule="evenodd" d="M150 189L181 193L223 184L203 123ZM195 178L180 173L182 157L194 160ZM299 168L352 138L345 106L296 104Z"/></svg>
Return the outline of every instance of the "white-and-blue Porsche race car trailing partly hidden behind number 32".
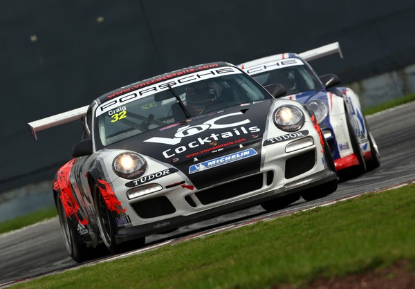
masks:
<svg viewBox="0 0 415 289"><path fill-rule="evenodd" d="M261 85L282 84L286 96L313 109L324 138L329 143L338 175L342 179L379 167L380 154L360 107L358 95L340 84L336 75L317 74L306 62L340 53L339 44L329 44L300 53L282 53L240 64Z"/></svg>

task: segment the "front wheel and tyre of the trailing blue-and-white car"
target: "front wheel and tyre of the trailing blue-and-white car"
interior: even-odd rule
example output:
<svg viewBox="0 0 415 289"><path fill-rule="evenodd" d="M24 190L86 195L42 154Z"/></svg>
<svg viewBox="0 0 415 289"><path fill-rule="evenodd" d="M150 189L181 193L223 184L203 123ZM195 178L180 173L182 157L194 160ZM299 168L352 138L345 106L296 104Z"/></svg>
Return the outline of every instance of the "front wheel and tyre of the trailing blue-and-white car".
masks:
<svg viewBox="0 0 415 289"><path fill-rule="evenodd" d="M352 167L347 167L346 169L341 169L338 171L338 177L340 180L350 180L351 178L356 178L366 171L366 162L362 155L362 150L360 149L358 137L354 133L353 126L349 120L349 115L346 113L346 122L347 122L347 131L349 131L349 138L351 142L351 149L353 154L358 158L358 165L353 165Z"/></svg>

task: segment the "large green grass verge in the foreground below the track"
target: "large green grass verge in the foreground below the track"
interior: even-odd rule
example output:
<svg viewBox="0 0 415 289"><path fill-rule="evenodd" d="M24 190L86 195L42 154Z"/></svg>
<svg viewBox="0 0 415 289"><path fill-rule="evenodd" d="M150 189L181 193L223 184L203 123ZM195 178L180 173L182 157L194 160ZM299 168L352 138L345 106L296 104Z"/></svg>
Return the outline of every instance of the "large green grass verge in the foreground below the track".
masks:
<svg viewBox="0 0 415 289"><path fill-rule="evenodd" d="M415 185L18 284L18 288L272 288L415 265ZM304 287L303 287L304 288Z"/></svg>

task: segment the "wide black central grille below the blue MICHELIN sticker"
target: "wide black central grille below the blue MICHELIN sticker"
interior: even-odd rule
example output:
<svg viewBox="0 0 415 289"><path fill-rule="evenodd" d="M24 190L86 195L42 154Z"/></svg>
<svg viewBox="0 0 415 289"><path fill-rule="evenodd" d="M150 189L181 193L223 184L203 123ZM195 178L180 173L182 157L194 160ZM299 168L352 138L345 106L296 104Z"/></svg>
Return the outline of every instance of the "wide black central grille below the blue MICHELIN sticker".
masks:
<svg viewBox="0 0 415 289"><path fill-rule="evenodd" d="M273 171L268 171L266 177L267 183L272 183L272 179ZM263 185L264 174L256 174L246 178L233 180L232 182L212 187L210 189L203 189L202 191L196 192L195 195L203 205L208 205L261 189Z"/></svg>

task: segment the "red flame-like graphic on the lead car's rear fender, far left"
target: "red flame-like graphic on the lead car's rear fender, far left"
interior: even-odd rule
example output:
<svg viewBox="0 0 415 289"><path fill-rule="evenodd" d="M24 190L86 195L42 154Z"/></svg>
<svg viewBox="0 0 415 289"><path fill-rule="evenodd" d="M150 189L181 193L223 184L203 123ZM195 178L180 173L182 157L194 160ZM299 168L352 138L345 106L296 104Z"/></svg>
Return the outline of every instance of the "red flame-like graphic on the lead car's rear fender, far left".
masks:
<svg viewBox="0 0 415 289"><path fill-rule="evenodd" d="M71 169L74 163L75 158L69 162L66 162L66 164L63 165L59 171L57 171L56 180L53 182L53 189L56 192L60 192L59 198L61 199L62 205L64 206L66 217L69 218L72 215L75 215L79 223L86 225L89 223L89 221L86 218L81 221L80 217L77 214L80 209L80 205L73 197L71 191L71 183L69 182L69 174L71 173Z"/></svg>

